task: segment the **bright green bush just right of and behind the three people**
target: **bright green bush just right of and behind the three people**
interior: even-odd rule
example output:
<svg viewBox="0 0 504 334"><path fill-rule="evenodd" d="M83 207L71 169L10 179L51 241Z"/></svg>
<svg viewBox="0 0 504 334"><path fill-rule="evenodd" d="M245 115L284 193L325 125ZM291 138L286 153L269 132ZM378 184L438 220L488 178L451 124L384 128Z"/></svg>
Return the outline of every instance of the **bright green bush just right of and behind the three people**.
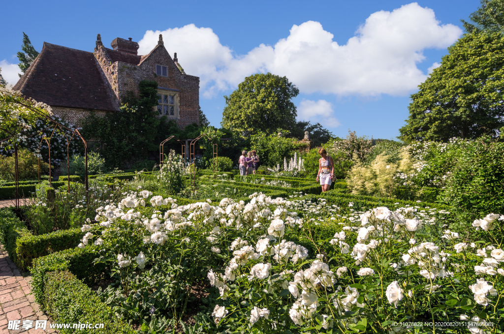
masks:
<svg viewBox="0 0 504 334"><path fill-rule="evenodd" d="M282 133L288 133L284 131ZM296 143L294 138L278 137L276 134L267 135L259 132L250 137L250 149L256 150L262 165L276 166L282 163L284 157L290 159L294 156L294 150L304 144ZM237 158L236 158L237 160Z"/></svg>

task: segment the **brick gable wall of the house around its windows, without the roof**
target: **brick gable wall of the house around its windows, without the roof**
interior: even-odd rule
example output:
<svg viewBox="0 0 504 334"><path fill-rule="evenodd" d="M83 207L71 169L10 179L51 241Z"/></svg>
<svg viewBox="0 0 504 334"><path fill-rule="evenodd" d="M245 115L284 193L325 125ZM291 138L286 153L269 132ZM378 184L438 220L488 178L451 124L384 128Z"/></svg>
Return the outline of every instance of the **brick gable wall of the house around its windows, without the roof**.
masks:
<svg viewBox="0 0 504 334"><path fill-rule="evenodd" d="M178 94L178 117L170 118L179 128L200 123L200 78L180 72L163 44L158 44L139 66L116 62L119 92L139 94L140 81L148 79ZM156 75L156 65L168 67L168 77Z"/></svg>

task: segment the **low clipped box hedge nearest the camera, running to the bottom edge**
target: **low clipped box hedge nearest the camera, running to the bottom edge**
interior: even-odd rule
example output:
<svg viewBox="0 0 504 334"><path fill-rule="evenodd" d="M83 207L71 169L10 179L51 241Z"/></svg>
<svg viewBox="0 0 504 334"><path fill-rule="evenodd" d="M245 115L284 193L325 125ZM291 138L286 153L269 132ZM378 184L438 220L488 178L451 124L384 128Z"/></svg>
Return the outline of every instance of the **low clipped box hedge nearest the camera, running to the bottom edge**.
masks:
<svg viewBox="0 0 504 334"><path fill-rule="evenodd" d="M100 333L136 333L127 323L118 319L92 291L92 286L106 279L103 263L93 263L94 246L73 248L33 262L32 293L37 303L55 322L103 323ZM82 281L81 281L82 280ZM89 332L89 329L59 329L61 333Z"/></svg>

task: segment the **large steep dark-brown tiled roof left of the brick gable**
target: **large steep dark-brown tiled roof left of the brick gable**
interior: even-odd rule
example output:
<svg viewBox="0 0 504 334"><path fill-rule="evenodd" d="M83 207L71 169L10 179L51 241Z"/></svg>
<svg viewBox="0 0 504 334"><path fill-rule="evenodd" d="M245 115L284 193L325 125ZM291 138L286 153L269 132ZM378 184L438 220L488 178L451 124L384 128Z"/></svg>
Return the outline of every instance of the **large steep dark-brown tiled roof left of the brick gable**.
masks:
<svg viewBox="0 0 504 334"><path fill-rule="evenodd" d="M13 89L52 106L118 109L92 52L46 42Z"/></svg>

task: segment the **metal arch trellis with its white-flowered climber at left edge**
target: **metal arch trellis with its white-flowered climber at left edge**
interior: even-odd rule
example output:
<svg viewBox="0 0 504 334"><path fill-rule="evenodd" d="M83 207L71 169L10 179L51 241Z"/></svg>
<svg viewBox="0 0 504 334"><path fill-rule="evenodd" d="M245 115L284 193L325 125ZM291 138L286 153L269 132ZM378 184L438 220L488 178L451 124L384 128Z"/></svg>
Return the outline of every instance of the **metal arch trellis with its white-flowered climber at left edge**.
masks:
<svg viewBox="0 0 504 334"><path fill-rule="evenodd" d="M67 140L67 166L70 165L70 156L69 156L69 147L70 141L76 137L76 135L82 140L84 144L84 153L85 153L85 184L86 184L86 197L88 196L88 151L87 151L87 141L79 132L78 129L71 130L66 126L56 122L51 119L49 115L52 115L50 112L50 107L36 102L31 99L24 99L24 97L19 92L8 91L2 89L0 94L0 119L2 120L2 126L0 127L0 134L5 134L8 137L0 140L0 143L3 142L13 142L14 146L14 156L15 156L15 204L16 208L19 208L19 165L18 165L18 146L21 139L26 139L43 133L43 131L54 128L51 135L49 137L43 136L38 149L40 150L40 146L42 142L45 140L48 144L49 150L49 184L51 183L51 174L50 174L50 139L56 130L62 133ZM24 114L24 118L22 116ZM46 127L45 129L36 131L29 136L27 136L27 132L32 129L32 125L30 123L34 123L38 119L45 119L49 121L52 126ZM68 133L71 133L69 137ZM69 139L70 138L70 139ZM39 154L39 180L40 180L40 154ZM70 173L68 173L68 189L70 191Z"/></svg>

